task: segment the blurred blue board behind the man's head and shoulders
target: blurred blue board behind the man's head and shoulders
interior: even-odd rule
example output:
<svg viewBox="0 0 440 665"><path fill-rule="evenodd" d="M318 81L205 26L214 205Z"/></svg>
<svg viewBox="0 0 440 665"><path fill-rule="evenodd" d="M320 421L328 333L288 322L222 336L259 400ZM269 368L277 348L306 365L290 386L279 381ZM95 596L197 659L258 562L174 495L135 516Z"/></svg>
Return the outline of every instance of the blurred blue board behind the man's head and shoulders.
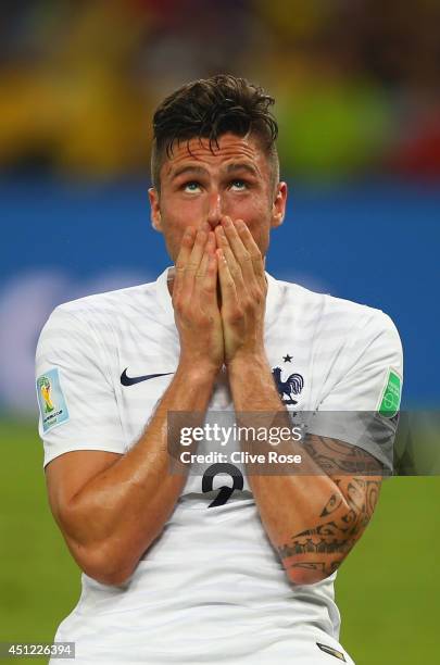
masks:
<svg viewBox="0 0 440 665"><path fill-rule="evenodd" d="M405 406L433 405L439 189L389 180L331 188L289 183L268 272L389 313L404 343ZM147 174L123 183L38 178L0 186L0 399L9 409L35 409L35 344L55 304L155 279L169 264L150 225L147 187Z"/></svg>

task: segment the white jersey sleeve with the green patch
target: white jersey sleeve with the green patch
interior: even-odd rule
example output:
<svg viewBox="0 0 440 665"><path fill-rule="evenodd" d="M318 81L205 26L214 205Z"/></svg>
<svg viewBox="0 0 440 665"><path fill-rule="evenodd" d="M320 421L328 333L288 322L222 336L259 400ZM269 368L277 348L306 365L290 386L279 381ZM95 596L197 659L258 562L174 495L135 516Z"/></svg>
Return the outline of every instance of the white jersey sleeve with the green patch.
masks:
<svg viewBox="0 0 440 665"><path fill-rule="evenodd" d="M339 372L326 384L307 429L366 450L392 473L403 352L391 318L373 312L350 331Z"/></svg>

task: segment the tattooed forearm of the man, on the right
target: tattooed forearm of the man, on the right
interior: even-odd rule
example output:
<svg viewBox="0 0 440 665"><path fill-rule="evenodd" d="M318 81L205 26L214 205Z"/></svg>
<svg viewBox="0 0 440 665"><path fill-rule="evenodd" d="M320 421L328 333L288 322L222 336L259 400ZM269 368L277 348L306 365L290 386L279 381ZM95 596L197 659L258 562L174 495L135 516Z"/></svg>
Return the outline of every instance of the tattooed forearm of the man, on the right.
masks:
<svg viewBox="0 0 440 665"><path fill-rule="evenodd" d="M232 363L229 380L237 413L266 412L267 426L291 427L264 357ZM345 478L336 482L302 442L291 440L288 448L289 453L301 455L297 473L263 475L253 467L249 482L289 578L297 584L314 582L330 575L353 547L362 506L355 510L345 499Z"/></svg>

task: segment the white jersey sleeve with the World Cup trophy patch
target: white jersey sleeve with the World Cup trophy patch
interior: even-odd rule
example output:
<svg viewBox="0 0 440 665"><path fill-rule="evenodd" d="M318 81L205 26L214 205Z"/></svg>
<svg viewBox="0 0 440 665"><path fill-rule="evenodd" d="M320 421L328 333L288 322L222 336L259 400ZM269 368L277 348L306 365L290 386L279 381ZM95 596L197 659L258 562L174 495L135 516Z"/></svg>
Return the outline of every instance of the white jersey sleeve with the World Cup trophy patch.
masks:
<svg viewBox="0 0 440 665"><path fill-rule="evenodd" d="M56 308L36 353L45 466L74 450L126 450L103 344L86 316Z"/></svg>

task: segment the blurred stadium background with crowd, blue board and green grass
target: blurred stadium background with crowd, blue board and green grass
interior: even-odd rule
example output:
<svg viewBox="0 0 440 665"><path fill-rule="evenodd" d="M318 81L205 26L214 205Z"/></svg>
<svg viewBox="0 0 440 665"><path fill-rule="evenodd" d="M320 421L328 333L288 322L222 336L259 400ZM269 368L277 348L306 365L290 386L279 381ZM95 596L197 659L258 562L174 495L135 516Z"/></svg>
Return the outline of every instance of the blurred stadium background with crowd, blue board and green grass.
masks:
<svg viewBox="0 0 440 665"><path fill-rule="evenodd" d="M268 271L380 308L406 407L439 402L437 0L3 0L0 4L0 641L51 640L78 595L36 435L34 351L60 302L155 278L150 121L218 72L276 98L289 214ZM437 222L436 222L437 219ZM395 478L341 569L359 665L435 662L438 478Z"/></svg>

